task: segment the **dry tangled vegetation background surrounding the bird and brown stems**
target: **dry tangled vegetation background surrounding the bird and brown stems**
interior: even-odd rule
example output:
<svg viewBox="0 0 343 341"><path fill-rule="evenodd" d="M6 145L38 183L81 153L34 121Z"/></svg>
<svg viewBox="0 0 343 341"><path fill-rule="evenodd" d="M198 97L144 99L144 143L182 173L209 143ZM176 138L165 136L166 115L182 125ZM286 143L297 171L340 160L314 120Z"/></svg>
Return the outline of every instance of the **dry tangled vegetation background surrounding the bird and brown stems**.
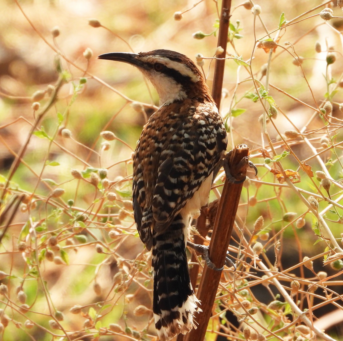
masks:
<svg viewBox="0 0 343 341"><path fill-rule="evenodd" d="M230 248L238 269L223 272L206 340L314 337L256 266L259 254L314 325L343 340L342 11L260 0L254 17L252 4L232 4L221 114L228 150L246 143L259 173L248 172ZM158 97L136 69L96 56L163 48L212 58L221 3L0 5L0 338L155 340L131 175ZM210 88L213 67L204 59Z"/></svg>

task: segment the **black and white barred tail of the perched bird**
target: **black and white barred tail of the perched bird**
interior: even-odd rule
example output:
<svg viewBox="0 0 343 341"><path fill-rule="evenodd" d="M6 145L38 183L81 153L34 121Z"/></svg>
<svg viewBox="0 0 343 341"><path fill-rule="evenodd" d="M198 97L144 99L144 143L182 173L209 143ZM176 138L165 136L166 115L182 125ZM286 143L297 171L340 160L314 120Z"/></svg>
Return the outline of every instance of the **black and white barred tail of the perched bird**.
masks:
<svg viewBox="0 0 343 341"><path fill-rule="evenodd" d="M190 283L186 236L187 226L181 214L176 215L166 231L153 231L153 313L161 341L197 328L193 314L201 309Z"/></svg>

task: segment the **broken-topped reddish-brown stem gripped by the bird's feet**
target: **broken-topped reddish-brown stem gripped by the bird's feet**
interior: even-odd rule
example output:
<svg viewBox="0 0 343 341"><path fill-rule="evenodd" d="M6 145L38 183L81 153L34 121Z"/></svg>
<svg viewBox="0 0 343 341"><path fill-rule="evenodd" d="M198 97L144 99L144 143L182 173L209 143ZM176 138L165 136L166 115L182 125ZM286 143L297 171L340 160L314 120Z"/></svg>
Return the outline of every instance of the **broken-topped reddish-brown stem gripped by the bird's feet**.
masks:
<svg viewBox="0 0 343 341"><path fill-rule="evenodd" d="M231 174L237 179L246 176L249 149L245 144L235 147L228 155ZM210 259L216 267L223 266L226 251L229 246L235 216L238 208L243 183L232 184L225 181L222 197L219 203L216 220L210 243ZM193 329L184 338L186 341L204 340L206 329L212 313L213 303L221 278L221 271L209 269L206 264L202 273L197 297L201 301L202 313L196 314L197 329Z"/></svg>

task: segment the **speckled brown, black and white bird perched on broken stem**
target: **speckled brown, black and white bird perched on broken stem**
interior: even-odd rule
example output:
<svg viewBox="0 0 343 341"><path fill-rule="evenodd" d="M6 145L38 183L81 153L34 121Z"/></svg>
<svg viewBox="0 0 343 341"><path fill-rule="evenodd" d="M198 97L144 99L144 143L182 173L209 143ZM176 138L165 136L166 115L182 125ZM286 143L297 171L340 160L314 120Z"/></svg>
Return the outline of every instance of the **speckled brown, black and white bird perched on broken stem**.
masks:
<svg viewBox="0 0 343 341"><path fill-rule="evenodd" d="M189 216L208 203L227 135L208 85L185 55L169 50L114 52L98 58L137 67L157 90L159 108L133 155L133 210L139 235L152 248L153 313L162 341L196 328L201 311L189 278Z"/></svg>

